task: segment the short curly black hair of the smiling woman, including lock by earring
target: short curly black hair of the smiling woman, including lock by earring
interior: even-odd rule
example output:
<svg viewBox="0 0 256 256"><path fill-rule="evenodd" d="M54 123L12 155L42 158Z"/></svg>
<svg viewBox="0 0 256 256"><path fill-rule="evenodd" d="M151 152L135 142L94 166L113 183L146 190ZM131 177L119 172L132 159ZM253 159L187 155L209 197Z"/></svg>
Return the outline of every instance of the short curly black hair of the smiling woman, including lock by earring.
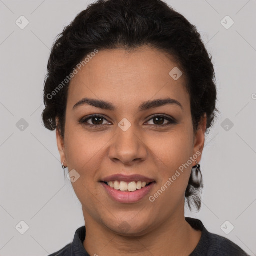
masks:
<svg viewBox="0 0 256 256"><path fill-rule="evenodd" d="M216 84L212 58L196 27L160 0L97 0L81 11L60 33L51 49L44 82L44 126L57 128L64 138L70 78L83 58L96 50L147 45L173 56L187 79L194 132L204 113L206 132L216 116ZM64 81L64 82L63 82ZM58 86L57 86L58 85ZM202 179L190 176L185 197L191 210L201 199Z"/></svg>

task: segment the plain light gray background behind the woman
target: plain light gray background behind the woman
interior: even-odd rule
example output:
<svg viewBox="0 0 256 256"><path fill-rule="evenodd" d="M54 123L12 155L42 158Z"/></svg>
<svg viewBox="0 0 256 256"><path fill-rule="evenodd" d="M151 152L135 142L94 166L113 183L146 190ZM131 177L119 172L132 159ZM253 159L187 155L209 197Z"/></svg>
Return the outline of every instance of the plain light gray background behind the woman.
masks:
<svg viewBox="0 0 256 256"><path fill-rule="evenodd" d="M0 0L1 256L48 255L84 225L80 202L64 178L68 170L63 174L55 131L43 127L41 112L51 45L92 2ZM197 27L212 55L221 112L200 161L202 208L186 209L186 216L256 255L256 0L166 2ZM29 21L24 29L15 23L21 15ZM223 26L232 20L231 27ZM24 234L15 228L20 221L29 227Z"/></svg>

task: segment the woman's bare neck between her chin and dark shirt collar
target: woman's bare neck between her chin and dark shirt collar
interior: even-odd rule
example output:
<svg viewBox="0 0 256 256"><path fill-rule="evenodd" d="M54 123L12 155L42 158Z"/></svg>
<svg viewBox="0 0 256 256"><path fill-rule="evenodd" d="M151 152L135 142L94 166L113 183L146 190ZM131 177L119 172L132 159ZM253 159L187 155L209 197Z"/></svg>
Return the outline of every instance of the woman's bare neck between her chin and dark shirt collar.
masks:
<svg viewBox="0 0 256 256"><path fill-rule="evenodd" d="M90 255L189 255L201 237L201 231L185 221L184 211L139 236L116 234L86 212L84 219L86 238L83 246Z"/></svg>

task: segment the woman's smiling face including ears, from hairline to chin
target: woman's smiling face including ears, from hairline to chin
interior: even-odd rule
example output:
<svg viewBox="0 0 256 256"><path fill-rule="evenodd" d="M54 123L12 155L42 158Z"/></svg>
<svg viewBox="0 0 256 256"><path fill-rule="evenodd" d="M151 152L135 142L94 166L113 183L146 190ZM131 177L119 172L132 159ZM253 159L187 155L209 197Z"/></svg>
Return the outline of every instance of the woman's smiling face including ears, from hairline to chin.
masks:
<svg viewBox="0 0 256 256"><path fill-rule="evenodd" d="M77 69L65 137L57 131L57 143L86 225L139 235L184 217L184 192L201 158L206 119L194 134L185 76L177 68L164 53L143 46L129 53L101 50ZM77 104L84 98L108 103ZM150 183L140 188L144 182Z"/></svg>

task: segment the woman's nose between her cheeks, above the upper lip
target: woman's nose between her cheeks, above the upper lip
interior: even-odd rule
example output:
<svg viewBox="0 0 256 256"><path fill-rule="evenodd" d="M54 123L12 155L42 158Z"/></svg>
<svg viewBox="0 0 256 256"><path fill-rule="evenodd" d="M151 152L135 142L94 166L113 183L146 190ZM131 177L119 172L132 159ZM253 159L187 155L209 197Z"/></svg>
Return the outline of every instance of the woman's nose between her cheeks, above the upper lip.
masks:
<svg viewBox="0 0 256 256"><path fill-rule="evenodd" d="M126 131L117 127L109 148L109 158L115 162L132 165L135 162L144 161L147 157L147 147L143 141L143 135L135 125L131 125Z"/></svg>

